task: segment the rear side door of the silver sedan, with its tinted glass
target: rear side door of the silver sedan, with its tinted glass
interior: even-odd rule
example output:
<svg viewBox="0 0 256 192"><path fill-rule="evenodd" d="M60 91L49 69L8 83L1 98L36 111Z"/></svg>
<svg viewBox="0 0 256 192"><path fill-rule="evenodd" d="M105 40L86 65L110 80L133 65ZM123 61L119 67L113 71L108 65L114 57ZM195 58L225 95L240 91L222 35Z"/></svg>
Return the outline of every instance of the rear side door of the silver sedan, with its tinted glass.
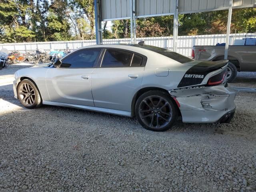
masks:
<svg viewBox="0 0 256 192"><path fill-rule="evenodd" d="M127 50L107 48L92 72L92 96L96 107L131 111L140 89L146 57Z"/></svg>

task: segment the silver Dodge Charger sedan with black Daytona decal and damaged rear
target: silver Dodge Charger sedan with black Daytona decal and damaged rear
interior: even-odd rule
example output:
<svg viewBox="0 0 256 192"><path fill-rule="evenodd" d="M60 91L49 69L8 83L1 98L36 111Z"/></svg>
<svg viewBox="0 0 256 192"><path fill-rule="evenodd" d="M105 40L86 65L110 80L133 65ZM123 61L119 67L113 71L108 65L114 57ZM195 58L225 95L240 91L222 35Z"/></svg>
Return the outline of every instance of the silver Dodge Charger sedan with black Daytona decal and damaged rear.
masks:
<svg viewBox="0 0 256 192"><path fill-rule="evenodd" d="M139 44L79 48L60 60L18 70L15 98L42 104L136 116L154 131L183 122L228 123L236 92L226 83L228 60L195 61Z"/></svg>

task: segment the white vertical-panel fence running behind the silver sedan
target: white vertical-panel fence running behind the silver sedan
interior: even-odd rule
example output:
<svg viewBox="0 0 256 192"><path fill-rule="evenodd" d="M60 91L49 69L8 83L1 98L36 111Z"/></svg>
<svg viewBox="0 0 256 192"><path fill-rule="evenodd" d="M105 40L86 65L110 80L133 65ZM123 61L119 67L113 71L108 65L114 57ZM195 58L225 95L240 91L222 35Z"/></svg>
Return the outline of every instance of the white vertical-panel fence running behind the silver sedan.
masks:
<svg viewBox="0 0 256 192"><path fill-rule="evenodd" d="M243 39L245 33L230 34L230 45L235 39ZM217 43L224 43L226 34L216 35L196 35L196 36L178 36L177 52L185 56L191 56L192 47L195 45L216 45ZM145 41L147 45L158 46L172 50L173 38L169 37L147 37L137 38L137 42ZM103 44L128 44L130 38L123 39L104 39ZM0 44L0 48L6 48L9 51L35 51L36 48L44 50L64 50L67 47L70 50L80 48L82 46L89 46L96 44L96 40L76 40L76 41L52 41L52 42L28 42L28 43L11 43Z"/></svg>

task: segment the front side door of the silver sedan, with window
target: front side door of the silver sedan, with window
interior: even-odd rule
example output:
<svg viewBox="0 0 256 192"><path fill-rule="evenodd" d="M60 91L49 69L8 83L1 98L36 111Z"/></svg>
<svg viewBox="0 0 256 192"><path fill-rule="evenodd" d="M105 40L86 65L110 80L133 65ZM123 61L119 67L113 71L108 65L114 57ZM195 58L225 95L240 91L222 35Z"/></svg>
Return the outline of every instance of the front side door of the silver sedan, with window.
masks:
<svg viewBox="0 0 256 192"><path fill-rule="evenodd" d="M100 48L77 50L63 58L59 68L49 68L46 87L50 101L94 106L91 78L100 52Z"/></svg>

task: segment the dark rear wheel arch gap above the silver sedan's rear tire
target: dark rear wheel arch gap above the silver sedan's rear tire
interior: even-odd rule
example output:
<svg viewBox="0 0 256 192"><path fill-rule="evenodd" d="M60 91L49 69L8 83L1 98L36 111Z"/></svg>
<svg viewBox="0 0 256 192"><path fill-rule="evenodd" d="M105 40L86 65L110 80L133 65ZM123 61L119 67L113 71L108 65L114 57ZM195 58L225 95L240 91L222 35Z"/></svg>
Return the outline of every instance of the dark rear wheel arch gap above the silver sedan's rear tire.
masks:
<svg viewBox="0 0 256 192"><path fill-rule="evenodd" d="M135 104L136 104L136 101L138 100L138 98L148 92L148 91L151 91L151 90L158 90L160 92L165 92L167 95L170 96L170 98L173 100L173 103L174 105L176 106L177 108L177 111L178 111L178 114L179 116L181 116L181 113L180 113L180 109L178 108L178 105L176 104L175 100L172 98L172 96L169 94L169 92L163 88L159 88L159 87L145 87L145 88L142 88L140 90L138 90L136 92L136 94L134 94L133 98L132 98L132 112L131 112L131 116L134 116L135 115Z"/></svg>

